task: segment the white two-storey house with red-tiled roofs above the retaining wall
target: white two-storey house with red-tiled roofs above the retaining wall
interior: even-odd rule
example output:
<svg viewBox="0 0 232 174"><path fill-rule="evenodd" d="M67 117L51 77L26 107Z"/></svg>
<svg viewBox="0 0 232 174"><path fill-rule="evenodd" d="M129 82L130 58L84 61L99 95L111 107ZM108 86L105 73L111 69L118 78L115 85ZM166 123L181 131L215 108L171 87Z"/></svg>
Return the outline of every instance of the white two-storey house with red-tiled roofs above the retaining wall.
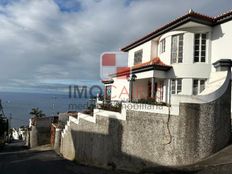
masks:
<svg viewBox="0 0 232 174"><path fill-rule="evenodd" d="M103 81L107 97L195 103L223 84L226 73L213 63L232 58L231 42L232 11L209 17L190 10L121 49L128 53L128 69Z"/></svg>

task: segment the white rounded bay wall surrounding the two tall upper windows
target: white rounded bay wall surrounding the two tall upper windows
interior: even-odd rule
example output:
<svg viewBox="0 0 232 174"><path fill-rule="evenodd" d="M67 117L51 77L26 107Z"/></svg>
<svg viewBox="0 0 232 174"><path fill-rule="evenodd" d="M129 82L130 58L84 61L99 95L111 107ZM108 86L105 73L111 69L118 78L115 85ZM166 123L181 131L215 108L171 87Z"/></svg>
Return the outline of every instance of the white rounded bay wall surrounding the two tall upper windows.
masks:
<svg viewBox="0 0 232 174"><path fill-rule="evenodd" d="M194 34L208 33L206 62L194 63ZM183 62L171 64L171 42L172 36L177 34L184 34L183 45ZM173 68L168 72L167 78L182 78L182 92L179 95L192 95L192 83L194 78L209 78L211 72L210 55L211 55L211 28L192 27L182 28L180 31L171 31L161 36L166 39L165 52L160 52L160 45L158 45L158 56L165 64L171 65Z"/></svg>

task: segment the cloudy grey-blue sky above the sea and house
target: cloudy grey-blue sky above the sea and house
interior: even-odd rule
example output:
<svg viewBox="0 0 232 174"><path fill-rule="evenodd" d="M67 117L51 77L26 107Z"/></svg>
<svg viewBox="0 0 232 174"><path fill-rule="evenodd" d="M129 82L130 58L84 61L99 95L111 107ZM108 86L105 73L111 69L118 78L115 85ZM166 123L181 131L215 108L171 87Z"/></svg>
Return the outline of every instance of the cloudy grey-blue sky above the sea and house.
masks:
<svg viewBox="0 0 232 174"><path fill-rule="evenodd" d="M57 87L60 81L98 83L102 52L118 50L190 8L216 15L229 10L231 3L12 0L1 4L0 90L33 90Z"/></svg>

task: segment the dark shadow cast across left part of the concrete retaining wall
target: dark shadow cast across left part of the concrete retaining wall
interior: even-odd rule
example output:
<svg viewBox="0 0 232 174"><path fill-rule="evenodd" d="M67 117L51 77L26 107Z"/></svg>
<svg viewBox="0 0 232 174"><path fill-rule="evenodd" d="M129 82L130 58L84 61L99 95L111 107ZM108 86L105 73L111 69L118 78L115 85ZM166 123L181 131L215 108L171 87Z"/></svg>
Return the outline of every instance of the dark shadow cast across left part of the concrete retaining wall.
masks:
<svg viewBox="0 0 232 174"><path fill-rule="evenodd" d="M96 124L95 127L98 131L101 131L101 126ZM109 118L108 134L93 133L93 131L83 132L71 130L75 148L75 160L81 164L141 173L196 172L196 169L185 171L183 168L161 166L122 152L123 126L121 121L117 119ZM133 143L136 144L136 142ZM137 150L139 150L139 148Z"/></svg>

